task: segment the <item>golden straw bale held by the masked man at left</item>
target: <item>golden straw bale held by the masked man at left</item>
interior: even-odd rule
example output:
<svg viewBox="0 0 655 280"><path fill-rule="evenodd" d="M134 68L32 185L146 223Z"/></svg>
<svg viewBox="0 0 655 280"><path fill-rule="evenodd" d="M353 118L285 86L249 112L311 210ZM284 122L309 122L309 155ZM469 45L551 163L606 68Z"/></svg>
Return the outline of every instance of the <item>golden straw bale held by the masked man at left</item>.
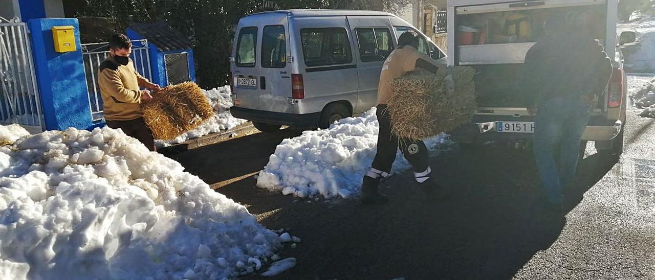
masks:
<svg viewBox="0 0 655 280"><path fill-rule="evenodd" d="M212 105L195 82L167 86L141 103L145 123L155 139L170 140L193 130L214 115Z"/></svg>

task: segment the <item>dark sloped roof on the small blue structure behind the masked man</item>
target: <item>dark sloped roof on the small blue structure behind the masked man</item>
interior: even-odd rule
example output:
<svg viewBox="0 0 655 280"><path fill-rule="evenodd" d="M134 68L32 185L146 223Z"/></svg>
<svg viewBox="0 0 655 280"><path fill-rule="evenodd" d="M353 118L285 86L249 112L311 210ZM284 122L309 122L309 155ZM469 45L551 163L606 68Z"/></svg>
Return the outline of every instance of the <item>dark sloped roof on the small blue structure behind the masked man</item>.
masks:
<svg viewBox="0 0 655 280"><path fill-rule="evenodd" d="M147 39L149 44L157 46L157 49L162 52L187 50L193 47L189 38L164 22L135 24L130 28Z"/></svg>

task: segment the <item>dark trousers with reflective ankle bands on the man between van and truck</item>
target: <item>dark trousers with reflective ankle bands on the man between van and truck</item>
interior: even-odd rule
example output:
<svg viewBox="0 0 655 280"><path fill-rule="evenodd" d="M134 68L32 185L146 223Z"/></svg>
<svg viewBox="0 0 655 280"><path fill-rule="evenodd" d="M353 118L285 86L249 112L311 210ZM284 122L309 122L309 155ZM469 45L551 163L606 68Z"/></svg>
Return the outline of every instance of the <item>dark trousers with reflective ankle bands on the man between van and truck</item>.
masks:
<svg viewBox="0 0 655 280"><path fill-rule="evenodd" d="M391 116L387 112L386 105L377 106L377 122L380 131L377 137L377 154L371 164L371 171L365 177L382 179L391 172L391 166L396 160L396 153L400 148L403 156L414 169L417 181L422 183L430 177L428 168L428 148L423 141L415 141L406 138L399 138L391 131ZM365 181L366 178L364 178Z"/></svg>

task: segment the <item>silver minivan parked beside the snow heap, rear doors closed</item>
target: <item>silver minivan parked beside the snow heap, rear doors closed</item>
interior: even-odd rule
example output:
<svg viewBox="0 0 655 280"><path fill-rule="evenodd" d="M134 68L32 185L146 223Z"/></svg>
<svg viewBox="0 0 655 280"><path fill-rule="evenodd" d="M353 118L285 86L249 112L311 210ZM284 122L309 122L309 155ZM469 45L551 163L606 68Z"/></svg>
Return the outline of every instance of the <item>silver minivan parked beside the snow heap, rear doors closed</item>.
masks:
<svg viewBox="0 0 655 280"><path fill-rule="evenodd" d="M382 65L405 31L417 31L386 12L276 10L241 18L230 80L236 118L270 132L280 126L327 128L364 113L377 101ZM445 54L422 35L419 50L445 64Z"/></svg>

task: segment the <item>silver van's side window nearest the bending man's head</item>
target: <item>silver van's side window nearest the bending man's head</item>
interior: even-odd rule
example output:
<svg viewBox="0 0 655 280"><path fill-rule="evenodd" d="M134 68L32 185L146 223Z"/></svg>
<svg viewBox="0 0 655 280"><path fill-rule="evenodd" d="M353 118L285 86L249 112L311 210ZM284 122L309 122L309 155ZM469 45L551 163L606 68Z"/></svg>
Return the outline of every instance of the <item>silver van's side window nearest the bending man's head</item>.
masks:
<svg viewBox="0 0 655 280"><path fill-rule="evenodd" d="M364 62L384 61L394 49L388 28L357 28L360 58Z"/></svg>

